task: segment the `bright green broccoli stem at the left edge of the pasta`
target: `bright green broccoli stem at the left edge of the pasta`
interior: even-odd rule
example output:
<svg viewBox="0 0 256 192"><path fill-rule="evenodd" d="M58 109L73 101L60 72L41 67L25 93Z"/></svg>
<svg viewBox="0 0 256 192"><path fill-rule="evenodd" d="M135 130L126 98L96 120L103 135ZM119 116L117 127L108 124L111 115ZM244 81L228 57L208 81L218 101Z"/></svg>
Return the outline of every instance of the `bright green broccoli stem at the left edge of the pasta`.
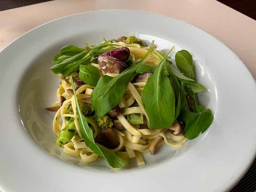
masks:
<svg viewBox="0 0 256 192"><path fill-rule="evenodd" d="M66 127L64 127L64 129L60 131L58 139L56 141L57 145L61 147L62 145L67 144L72 139L72 137L74 137L75 134L76 126L74 119L71 118Z"/></svg>

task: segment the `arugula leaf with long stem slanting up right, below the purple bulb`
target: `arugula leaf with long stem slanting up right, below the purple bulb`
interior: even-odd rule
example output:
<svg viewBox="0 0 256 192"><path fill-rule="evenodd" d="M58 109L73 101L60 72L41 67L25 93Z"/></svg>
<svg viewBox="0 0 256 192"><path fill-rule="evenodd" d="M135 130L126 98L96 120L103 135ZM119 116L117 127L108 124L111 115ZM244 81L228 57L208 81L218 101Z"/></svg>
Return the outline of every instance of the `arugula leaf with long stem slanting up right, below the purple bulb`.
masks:
<svg viewBox="0 0 256 192"><path fill-rule="evenodd" d="M146 55L136 65L125 69L116 77L107 75L100 77L98 84L92 91L91 97L92 107L98 117L105 115L111 108L116 107L118 102L122 99L128 83L136 69L147 58L153 43L154 41L152 41Z"/></svg>

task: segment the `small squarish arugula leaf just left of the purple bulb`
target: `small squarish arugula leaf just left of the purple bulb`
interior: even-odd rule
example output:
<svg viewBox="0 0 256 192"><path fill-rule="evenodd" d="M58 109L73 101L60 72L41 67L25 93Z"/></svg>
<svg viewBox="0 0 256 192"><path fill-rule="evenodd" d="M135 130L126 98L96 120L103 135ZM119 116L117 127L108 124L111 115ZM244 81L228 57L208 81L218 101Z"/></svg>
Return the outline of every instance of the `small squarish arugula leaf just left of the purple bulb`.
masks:
<svg viewBox="0 0 256 192"><path fill-rule="evenodd" d="M91 65L80 65L79 69L80 79L84 83L95 87L100 75L98 68Z"/></svg>

